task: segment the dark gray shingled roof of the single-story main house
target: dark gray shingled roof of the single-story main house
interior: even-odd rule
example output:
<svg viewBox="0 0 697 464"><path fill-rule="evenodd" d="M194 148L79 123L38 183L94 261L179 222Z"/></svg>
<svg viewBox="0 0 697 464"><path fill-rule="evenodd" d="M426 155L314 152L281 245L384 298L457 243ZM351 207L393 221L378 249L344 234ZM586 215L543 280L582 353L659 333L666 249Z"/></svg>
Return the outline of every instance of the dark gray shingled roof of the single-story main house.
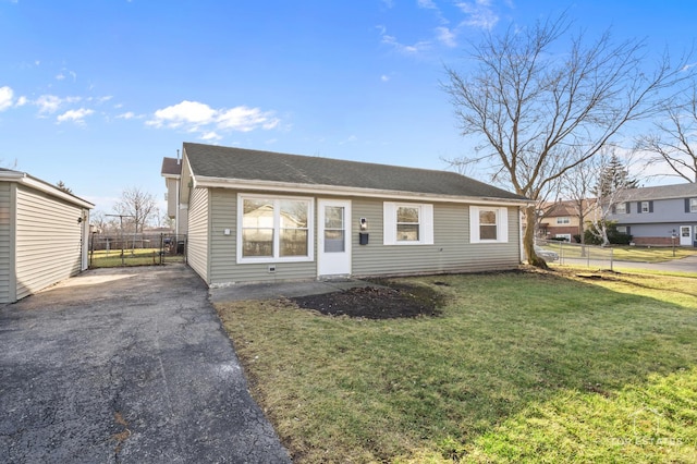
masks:
<svg viewBox="0 0 697 464"><path fill-rule="evenodd" d="M526 200L464 175L427 169L184 143L194 178ZM356 192L358 193L358 192Z"/></svg>

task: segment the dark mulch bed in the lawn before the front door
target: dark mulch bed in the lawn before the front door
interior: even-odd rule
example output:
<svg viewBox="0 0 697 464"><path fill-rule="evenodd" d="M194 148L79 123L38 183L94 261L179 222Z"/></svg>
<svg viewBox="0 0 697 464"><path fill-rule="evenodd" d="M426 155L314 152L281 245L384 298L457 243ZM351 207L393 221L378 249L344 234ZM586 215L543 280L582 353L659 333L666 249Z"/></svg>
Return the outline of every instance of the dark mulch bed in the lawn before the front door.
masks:
<svg viewBox="0 0 697 464"><path fill-rule="evenodd" d="M439 316L440 295L427 286L364 286L291 298L298 307L327 316L395 319Z"/></svg>

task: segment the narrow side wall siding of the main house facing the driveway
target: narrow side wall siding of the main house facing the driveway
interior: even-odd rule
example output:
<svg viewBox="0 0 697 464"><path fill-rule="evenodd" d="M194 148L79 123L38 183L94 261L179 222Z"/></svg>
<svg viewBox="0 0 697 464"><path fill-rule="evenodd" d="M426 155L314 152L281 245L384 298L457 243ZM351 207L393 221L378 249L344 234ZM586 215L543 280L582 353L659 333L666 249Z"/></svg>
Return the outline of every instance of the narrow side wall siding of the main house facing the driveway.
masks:
<svg viewBox="0 0 697 464"><path fill-rule="evenodd" d="M210 284L209 256L210 233L208 220L210 204L208 188L192 190L188 204L188 235L186 244L186 260L198 276Z"/></svg>

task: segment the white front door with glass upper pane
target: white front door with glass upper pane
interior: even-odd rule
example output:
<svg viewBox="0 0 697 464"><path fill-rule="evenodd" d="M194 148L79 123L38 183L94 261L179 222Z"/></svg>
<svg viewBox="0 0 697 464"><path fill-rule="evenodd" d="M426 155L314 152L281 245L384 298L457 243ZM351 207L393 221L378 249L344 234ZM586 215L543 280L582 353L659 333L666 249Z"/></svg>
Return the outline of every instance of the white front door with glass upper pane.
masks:
<svg viewBox="0 0 697 464"><path fill-rule="evenodd" d="M320 199L317 274L351 274L351 202Z"/></svg>

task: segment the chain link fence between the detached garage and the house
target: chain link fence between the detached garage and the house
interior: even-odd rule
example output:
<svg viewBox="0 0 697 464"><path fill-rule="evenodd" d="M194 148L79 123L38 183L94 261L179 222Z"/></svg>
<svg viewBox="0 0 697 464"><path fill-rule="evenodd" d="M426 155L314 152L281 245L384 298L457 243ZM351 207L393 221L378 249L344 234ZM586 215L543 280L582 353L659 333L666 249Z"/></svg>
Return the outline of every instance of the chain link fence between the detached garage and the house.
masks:
<svg viewBox="0 0 697 464"><path fill-rule="evenodd" d="M89 239L90 268L186 262L186 235L93 233Z"/></svg>

